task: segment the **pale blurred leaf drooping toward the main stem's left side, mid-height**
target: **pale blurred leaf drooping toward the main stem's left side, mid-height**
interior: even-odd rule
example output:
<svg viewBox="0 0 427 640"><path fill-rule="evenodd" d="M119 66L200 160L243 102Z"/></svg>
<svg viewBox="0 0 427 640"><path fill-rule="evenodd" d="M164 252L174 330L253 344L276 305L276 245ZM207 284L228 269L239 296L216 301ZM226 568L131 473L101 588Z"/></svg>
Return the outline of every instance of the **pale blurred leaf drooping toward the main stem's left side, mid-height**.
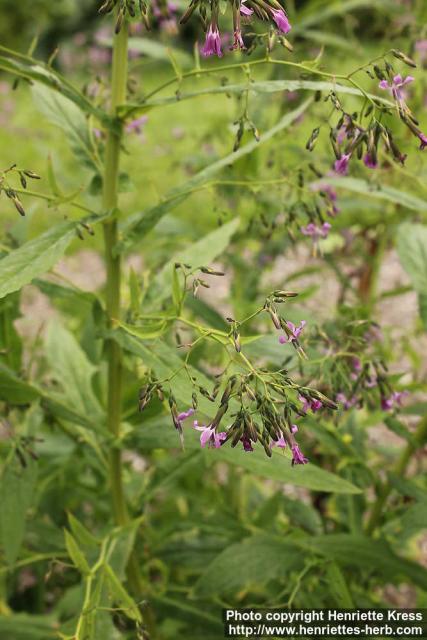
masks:
<svg viewBox="0 0 427 640"><path fill-rule="evenodd" d="M73 334L58 321L49 324L46 356L52 374L62 388L62 393L51 392L50 396L58 398L72 411L88 416L95 425L102 421L104 412L92 387L96 367L89 362Z"/></svg>

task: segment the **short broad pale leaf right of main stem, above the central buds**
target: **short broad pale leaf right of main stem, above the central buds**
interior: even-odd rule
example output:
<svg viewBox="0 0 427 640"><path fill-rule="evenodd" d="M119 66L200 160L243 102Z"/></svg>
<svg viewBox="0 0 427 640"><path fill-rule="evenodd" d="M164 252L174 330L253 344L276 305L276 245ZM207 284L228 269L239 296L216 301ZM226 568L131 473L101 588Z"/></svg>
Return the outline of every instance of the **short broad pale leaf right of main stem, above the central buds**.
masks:
<svg viewBox="0 0 427 640"><path fill-rule="evenodd" d="M156 302L162 302L170 295L171 287L174 284L174 274L176 273L174 265L176 262L189 264L194 268L209 266L209 264L228 247L238 226L239 219L237 218L215 229L215 231L211 231L197 242L191 244L188 249L175 254L173 258L165 264L154 280L154 292L152 295L155 296ZM181 294L181 288L179 292ZM174 292L174 301L175 296L177 297L177 292Z"/></svg>

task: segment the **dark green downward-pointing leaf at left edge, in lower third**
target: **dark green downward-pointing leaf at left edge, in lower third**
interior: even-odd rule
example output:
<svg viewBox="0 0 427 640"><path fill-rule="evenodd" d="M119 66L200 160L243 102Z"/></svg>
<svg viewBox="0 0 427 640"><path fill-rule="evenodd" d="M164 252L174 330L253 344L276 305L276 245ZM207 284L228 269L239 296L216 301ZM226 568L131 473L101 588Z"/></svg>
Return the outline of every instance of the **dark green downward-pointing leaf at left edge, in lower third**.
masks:
<svg viewBox="0 0 427 640"><path fill-rule="evenodd" d="M25 519L31 505L37 465L27 461L25 468L16 458L8 461L0 479L0 541L8 564L18 557L25 534Z"/></svg>

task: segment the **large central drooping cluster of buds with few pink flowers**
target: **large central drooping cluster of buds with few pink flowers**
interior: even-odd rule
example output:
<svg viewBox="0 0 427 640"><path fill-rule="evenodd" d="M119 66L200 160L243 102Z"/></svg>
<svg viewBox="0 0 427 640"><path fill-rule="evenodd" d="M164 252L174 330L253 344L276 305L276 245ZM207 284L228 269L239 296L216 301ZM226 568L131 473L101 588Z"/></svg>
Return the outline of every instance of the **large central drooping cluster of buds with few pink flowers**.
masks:
<svg viewBox="0 0 427 640"><path fill-rule="evenodd" d="M279 313L277 307L296 295L292 291L276 290L266 299L264 306L250 318L259 313L268 313L275 329L282 332L279 342L291 343L297 352L303 355L299 336L305 322L302 321L299 326L295 326ZM184 410L178 409L177 400L170 388L170 380L174 374L167 383L149 376L140 391L140 410L145 409L155 394L160 400L167 396L172 422L182 443L184 423L194 416L192 426L200 433L202 447L219 448L229 442L231 447L240 444L244 451L251 452L259 445L269 457L272 455L272 449L278 447L289 449L292 464L305 464L307 459L301 453L295 436L299 430L296 424L298 419L304 418L308 412L336 410L337 404L322 391L293 380L286 369L273 372L255 369L246 357L241 357L240 327L249 319L241 323L232 318L227 320L231 325L228 337L237 354L240 354L240 357L236 357L236 362L239 362L238 372L226 376L229 369L227 365L224 372L216 376L212 390L208 390L188 371L193 384L192 405ZM240 370L240 360L247 368L244 373ZM207 422L201 422L195 415L199 410L200 396L216 405L212 417ZM211 412L204 410L204 414L209 415Z"/></svg>

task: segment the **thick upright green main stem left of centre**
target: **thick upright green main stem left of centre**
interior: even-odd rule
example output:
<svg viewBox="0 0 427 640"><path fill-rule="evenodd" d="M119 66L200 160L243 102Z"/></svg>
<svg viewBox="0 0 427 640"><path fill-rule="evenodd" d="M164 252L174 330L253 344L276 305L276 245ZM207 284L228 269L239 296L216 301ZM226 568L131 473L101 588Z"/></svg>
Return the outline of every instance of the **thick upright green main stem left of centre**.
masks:
<svg viewBox="0 0 427 640"><path fill-rule="evenodd" d="M117 107L126 102L126 88L128 80L128 31L125 24L114 36L113 63L111 75L111 106L112 117L117 115ZM108 131L105 147L105 169L103 177L102 206L103 211L110 211L111 217L104 223L104 248L107 269L106 311L108 323L111 327L114 319L120 317L120 287L121 287L121 259L114 253L117 244L117 205L120 170L120 153L122 140L122 126L117 132ZM122 350L115 340L105 341L105 351L108 361L108 399L107 426L112 436L110 450L110 487L112 494L113 513L116 524L123 526L129 522L129 513L123 489L122 455L115 441L121 435L121 406L122 406ZM132 591L141 595L142 580L138 559L132 552L127 575Z"/></svg>

